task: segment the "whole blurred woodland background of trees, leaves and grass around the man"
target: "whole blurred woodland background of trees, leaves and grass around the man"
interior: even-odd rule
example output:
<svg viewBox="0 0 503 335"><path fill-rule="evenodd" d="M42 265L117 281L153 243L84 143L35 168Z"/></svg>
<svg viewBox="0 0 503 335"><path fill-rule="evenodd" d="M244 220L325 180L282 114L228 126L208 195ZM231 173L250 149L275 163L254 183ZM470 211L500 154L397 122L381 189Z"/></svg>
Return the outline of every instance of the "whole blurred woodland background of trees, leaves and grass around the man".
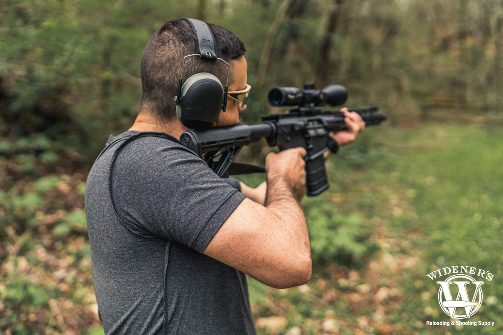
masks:
<svg viewBox="0 0 503 335"><path fill-rule="evenodd" d="M259 333L499 333L503 3L496 0L4 0L0 3L0 332L99 334L83 192L110 134L133 122L139 62L165 22L226 27L247 47L244 122L279 113L274 86L348 88L386 124L330 157L304 198L313 278L250 279ZM334 109L339 107L332 107ZM241 161L263 163L250 146ZM264 176L244 176L258 184ZM440 308L427 275L490 272L470 318ZM479 277L477 277L479 278Z"/></svg>

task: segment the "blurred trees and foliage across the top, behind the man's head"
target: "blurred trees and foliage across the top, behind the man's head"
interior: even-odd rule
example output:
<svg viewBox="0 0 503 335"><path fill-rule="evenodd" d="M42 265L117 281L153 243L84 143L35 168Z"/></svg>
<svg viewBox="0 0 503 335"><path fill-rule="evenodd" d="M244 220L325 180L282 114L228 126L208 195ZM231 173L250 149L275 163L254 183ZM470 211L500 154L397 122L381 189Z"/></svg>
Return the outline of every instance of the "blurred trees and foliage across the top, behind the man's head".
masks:
<svg viewBox="0 0 503 335"><path fill-rule="evenodd" d="M392 122L417 121L434 107L481 113L503 105L503 82L495 75L503 10L494 0L433 6L416 0L8 0L0 6L0 133L43 132L88 162L108 134L133 121L143 46L164 21L180 17L220 24L247 45L254 87L247 123L267 114L269 88L306 81L345 84L349 105L386 106ZM0 143L0 152L7 149Z"/></svg>

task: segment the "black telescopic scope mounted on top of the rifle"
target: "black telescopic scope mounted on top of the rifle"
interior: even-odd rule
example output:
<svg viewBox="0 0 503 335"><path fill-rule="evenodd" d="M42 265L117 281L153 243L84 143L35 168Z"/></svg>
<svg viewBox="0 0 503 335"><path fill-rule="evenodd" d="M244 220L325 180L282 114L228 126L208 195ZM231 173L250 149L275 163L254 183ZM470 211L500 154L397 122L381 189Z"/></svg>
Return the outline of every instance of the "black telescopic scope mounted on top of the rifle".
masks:
<svg viewBox="0 0 503 335"><path fill-rule="evenodd" d="M328 85L323 89L314 89L314 83L305 83L304 89L297 87L274 87L269 91L271 106L306 106L328 103L342 105L348 98L348 90L343 85Z"/></svg>

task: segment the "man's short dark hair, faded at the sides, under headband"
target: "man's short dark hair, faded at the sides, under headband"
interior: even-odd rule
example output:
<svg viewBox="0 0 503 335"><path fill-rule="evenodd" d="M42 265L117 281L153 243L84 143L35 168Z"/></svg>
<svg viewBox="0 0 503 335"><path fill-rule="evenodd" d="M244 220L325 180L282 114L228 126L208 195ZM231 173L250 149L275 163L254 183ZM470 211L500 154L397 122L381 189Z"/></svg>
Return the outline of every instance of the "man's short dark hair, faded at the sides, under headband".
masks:
<svg viewBox="0 0 503 335"><path fill-rule="evenodd" d="M230 62L243 56L243 42L225 28L208 24L215 36L219 58ZM148 41L141 57L141 111L150 111L159 123L177 118L174 98L182 74L184 56L196 53L195 34L185 20L166 22ZM225 85L228 66L221 61L189 57L185 62L183 80L196 72L210 72ZM229 84L232 82L232 69Z"/></svg>

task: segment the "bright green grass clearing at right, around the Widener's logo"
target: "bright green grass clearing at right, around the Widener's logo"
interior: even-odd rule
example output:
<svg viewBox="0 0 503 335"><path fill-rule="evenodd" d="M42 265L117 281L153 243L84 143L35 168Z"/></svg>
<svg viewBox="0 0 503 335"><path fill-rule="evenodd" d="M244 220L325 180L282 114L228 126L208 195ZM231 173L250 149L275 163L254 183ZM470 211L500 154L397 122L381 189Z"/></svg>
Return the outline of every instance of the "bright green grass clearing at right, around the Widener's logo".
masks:
<svg viewBox="0 0 503 335"><path fill-rule="evenodd" d="M400 134L390 134L392 137ZM389 186L394 190L398 208L394 215L384 217L388 232L408 239L413 248L409 254L420 256L420 262L400 281L410 299L401 311L401 319L449 320L439 312L436 294L438 285L426 274L442 267L470 265L494 275L483 287L486 299L480 311L470 320L493 320L501 328L501 255L500 242L503 219L503 131L492 127L432 125L403 142L404 148L394 150L393 162L376 164L367 177L379 174L387 166L393 174ZM399 143L387 138L386 146ZM413 148L417 149L414 150ZM379 169L379 170L378 170ZM431 293L423 301L421 294ZM430 308L425 308L431 304ZM492 302L492 304L491 304ZM406 321L405 321L406 322ZM452 327L451 327L452 328ZM444 333L447 328L431 328ZM473 333L473 327L456 329ZM477 333L498 333L496 327L476 329Z"/></svg>

